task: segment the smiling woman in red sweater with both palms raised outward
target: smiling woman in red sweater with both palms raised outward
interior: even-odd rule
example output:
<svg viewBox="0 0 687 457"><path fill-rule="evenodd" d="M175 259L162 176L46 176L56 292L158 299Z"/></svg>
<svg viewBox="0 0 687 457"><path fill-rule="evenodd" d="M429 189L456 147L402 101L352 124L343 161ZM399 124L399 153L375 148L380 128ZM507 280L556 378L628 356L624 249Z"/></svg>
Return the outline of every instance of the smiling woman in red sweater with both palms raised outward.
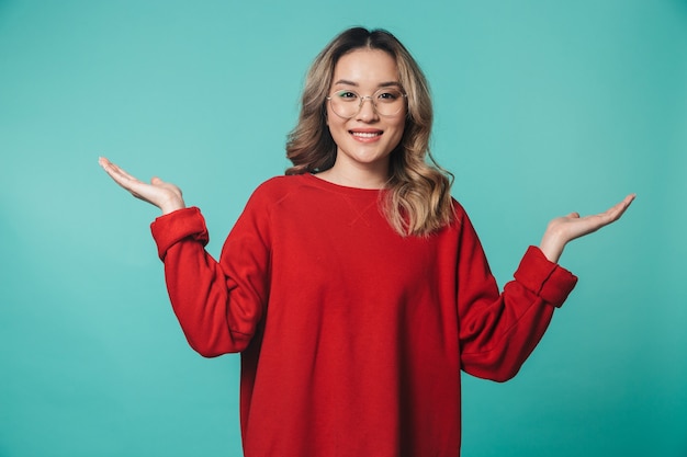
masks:
<svg viewBox="0 0 687 457"><path fill-rule="evenodd" d="M460 370L515 376L575 285L556 264L565 244L633 199L553 219L499 293L429 156L431 122L404 46L344 32L307 75L293 167L255 191L219 262L177 186L101 159L162 210L153 235L190 345L241 353L247 457L457 456Z"/></svg>

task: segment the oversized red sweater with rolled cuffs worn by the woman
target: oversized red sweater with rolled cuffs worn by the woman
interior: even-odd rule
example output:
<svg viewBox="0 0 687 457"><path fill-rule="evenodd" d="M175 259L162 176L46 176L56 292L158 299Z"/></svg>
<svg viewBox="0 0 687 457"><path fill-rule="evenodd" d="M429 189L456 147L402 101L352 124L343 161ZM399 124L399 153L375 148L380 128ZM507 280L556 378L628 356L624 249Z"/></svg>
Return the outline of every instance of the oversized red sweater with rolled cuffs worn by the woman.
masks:
<svg viewBox="0 0 687 457"><path fill-rule="evenodd" d="M499 293L460 204L402 237L382 192L269 180L219 262L198 208L153 224L190 345L241 353L246 457L458 456L461 369L513 377L575 285L530 247Z"/></svg>

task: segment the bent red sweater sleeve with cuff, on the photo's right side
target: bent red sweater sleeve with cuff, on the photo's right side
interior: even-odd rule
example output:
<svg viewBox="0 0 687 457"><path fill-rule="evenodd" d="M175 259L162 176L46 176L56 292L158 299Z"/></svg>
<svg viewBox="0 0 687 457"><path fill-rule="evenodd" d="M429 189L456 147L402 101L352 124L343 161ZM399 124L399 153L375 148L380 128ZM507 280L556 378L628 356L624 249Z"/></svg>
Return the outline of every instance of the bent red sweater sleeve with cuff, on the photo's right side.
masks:
<svg viewBox="0 0 687 457"><path fill-rule="evenodd" d="M499 293L484 250L463 213L458 265L461 365L471 375L505 381L514 377L543 336L553 310L577 277L530 247Z"/></svg>

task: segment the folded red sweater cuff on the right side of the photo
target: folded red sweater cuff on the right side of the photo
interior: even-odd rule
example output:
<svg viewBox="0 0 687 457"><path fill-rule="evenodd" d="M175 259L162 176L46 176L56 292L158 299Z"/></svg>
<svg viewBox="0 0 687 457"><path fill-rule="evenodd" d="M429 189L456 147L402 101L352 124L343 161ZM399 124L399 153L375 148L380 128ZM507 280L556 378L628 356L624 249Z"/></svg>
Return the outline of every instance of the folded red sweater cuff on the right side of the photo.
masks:
<svg viewBox="0 0 687 457"><path fill-rule="evenodd" d="M577 284L577 276L551 262L539 248L530 245L515 278L544 301L560 308Z"/></svg>

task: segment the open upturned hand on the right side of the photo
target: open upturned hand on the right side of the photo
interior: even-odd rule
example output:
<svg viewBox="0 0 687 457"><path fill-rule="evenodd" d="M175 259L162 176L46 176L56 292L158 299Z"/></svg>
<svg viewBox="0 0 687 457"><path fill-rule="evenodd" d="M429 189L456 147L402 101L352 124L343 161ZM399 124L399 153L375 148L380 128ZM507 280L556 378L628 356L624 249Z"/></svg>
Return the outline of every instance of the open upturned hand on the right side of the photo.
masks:
<svg viewBox="0 0 687 457"><path fill-rule="evenodd" d="M556 217L549 222L539 248L547 259L556 263L563 253L565 244L575 238L593 233L601 227L620 219L620 216L628 209L634 196L634 194L630 194L613 207L596 215L579 217L578 213L571 213L567 216Z"/></svg>

